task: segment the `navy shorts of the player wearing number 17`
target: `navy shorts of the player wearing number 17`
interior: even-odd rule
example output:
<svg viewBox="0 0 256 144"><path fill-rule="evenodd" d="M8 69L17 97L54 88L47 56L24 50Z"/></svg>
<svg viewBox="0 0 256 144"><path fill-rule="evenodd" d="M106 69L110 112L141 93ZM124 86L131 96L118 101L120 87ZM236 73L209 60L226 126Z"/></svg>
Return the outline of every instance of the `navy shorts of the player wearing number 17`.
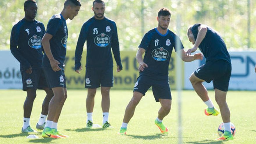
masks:
<svg viewBox="0 0 256 144"><path fill-rule="evenodd" d="M159 102L159 99L172 99L168 76L154 78L141 74L137 78L133 91L145 95L151 86L156 102Z"/></svg>

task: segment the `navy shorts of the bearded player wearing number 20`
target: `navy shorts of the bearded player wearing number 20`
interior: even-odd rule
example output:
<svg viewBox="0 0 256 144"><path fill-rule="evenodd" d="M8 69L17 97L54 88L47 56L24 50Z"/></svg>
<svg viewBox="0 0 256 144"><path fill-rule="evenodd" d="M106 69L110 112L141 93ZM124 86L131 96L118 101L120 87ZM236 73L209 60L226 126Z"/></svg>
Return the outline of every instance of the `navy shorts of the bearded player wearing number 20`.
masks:
<svg viewBox="0 0 256 144"><path fill-rule="evenodd" d="M113 67L108 69L86 68L85 88L113 87Z"/></svg>

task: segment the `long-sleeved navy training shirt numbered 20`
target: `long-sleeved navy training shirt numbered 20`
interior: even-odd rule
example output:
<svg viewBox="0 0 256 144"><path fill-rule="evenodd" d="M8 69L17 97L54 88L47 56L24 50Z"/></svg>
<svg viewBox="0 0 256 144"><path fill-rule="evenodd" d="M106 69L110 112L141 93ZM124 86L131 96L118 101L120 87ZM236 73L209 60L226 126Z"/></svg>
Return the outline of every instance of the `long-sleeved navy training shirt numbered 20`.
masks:
<svg viewBox="0 0 256 144"><path fill-rule="evenodd" d="M75 70L81 66L83 46L87 40L86 67L113 67L111 48L117 65L122 70L117 27L114 21L104 17L102 20L90 18L81 28L75 52Z"/></svg>

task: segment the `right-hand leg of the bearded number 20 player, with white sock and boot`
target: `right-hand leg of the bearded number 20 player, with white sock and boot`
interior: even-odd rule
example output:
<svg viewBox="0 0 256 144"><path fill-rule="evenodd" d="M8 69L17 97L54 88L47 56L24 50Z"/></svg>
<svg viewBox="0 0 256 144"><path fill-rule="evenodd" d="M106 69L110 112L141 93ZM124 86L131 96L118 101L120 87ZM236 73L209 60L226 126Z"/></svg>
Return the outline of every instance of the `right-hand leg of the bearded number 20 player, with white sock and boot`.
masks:
<svg viewBox="0 0 256 144"><path fill-rule="evenodd" d="M109 124L109 107L110 107L110 92L111 87L101 87L101 95L102 95L102 101L101 101L101 107L102 107L102 113L103 113L103 121L102 125L103 128L107 128L110 126Z"/></svg>

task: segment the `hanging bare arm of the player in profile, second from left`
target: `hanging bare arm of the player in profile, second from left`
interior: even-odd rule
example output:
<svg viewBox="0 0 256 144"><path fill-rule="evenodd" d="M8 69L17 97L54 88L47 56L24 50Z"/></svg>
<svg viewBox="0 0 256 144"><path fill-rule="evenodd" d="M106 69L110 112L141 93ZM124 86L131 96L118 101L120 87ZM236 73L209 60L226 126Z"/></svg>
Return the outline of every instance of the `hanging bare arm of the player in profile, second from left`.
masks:
<svg viewBox="0 0 256 144"><path fill-rule="evenodd" d="M49 33L45 33L44 37L42 38L42 45L45 50L46 56L49 58L49 61L51 63L51 68L54 72L61 70L61 68L58 66L60 64L56 59L54 59L51 48L50 48L50 40L52 38L52 35Z"/></svg>

